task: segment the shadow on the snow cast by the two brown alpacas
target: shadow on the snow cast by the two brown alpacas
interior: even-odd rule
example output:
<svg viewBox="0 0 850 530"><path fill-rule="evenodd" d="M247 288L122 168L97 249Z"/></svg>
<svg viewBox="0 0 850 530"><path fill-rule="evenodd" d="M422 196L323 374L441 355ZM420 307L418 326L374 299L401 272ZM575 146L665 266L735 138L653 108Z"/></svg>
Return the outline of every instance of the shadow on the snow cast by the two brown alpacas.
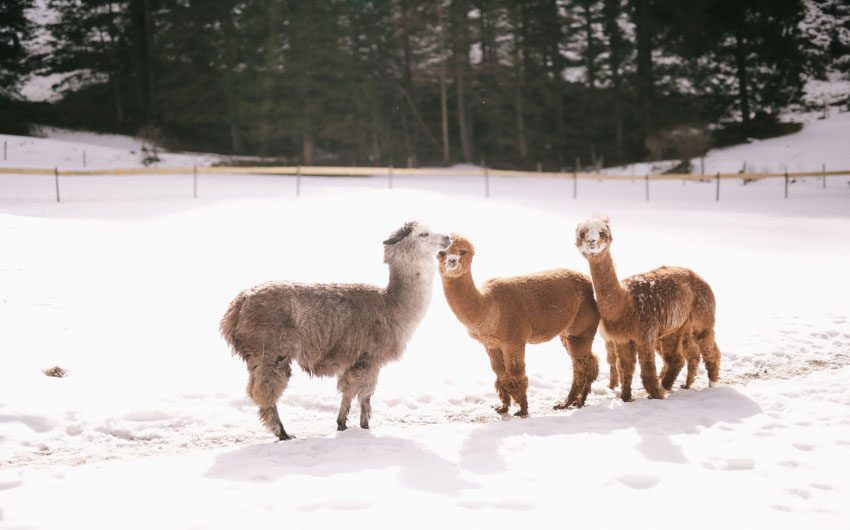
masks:
<svg viewBox="0 0 850 530"><path fill-rule="evenodd" d="M640 441L634 446L646 460L684 464L682 448L670 438L677 434L697 434L700 428L718 423L736 423L762 412L755 401L730 387L682 390L664 400L642 399L608 408L584 407L569 416L531 417L496 422L473 431L461 449L460 467L477 473L498 473L506 469L499 456L505 439L514 436L553 436L565 434L607 434L634 429ZM623 447L623 450L629 448ZM603 454L564 453L564 458L599 458Z"/></svg>

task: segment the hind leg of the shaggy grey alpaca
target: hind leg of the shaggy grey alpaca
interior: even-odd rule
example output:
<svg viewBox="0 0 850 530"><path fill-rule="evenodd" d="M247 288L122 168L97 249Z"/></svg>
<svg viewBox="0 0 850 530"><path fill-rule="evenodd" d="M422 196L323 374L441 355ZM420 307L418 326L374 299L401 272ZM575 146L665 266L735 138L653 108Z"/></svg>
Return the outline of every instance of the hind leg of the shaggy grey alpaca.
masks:
<svg viewBox="0 0 850 530"><path fill-rule="evenodd" d="M255 360L256 359L256 360ZM248 359L248 396L260 407L260 420L280 440L294 438L287 434L277 412L277 400L292 375L290 359L282 356L252 355Z"/></svg>

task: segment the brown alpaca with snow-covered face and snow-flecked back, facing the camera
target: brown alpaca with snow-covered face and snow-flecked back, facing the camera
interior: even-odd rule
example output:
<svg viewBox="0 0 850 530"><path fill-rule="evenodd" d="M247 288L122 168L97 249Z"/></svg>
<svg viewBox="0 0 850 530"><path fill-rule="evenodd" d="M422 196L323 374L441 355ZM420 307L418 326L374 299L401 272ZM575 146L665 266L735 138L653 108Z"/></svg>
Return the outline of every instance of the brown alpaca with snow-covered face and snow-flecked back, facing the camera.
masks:
<svg viewBox="0 0 850 530"><path fill-rule="evenodd" d="M620 379L623 401L630 401L635 362L650 398L664 397L687 358L685 388L693 384L702 355L713 386L720 374L720 350L714 341L714 293L696 273L682 267L660 267L617 280L611 259L608 219L591 218L576 228L576 246L590 264L596 303L606 345L616 352L610 386ZM655 372L655 350L664 359L661 384ZM609 362L611 360L609 354Z"/></svg>

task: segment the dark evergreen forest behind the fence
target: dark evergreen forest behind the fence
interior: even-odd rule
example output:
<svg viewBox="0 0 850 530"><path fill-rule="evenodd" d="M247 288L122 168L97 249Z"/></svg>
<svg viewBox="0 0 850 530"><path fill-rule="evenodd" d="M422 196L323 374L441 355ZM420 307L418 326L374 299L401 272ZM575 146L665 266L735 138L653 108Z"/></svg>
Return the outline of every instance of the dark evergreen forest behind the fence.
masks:
<svg viewBox="0 0 850 530"><path fill-rule="evenodd" d="M841 0L46 0L37 20L32 4L0 8L3 129L302 164L669 156L670 131L711 131L697 149L775 134L807 78L850 67ZM33 72L61 99L21 101Z"/></svg>

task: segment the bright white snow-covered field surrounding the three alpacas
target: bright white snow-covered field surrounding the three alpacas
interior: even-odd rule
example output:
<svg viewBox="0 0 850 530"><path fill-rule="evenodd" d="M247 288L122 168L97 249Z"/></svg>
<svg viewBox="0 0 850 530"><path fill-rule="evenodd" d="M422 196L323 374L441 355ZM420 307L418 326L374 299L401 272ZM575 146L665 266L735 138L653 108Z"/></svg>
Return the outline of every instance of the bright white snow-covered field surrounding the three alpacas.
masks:
<svg viewBox="0 0 850 530"><path fill-rule="evenodd" d="M818 123L846 138L848 116ZM480 177L305 178L295 197L291 178L205 175L197 200L185 176L62 185L56 204L51 178L0 176L0 529L850 528L847 177L787 200L781 180L724 181L720 202L713 182L652 183L649 202L642 183L580 181L574 200L570 181L509 178L488 200ZM552 341L527 351L531 416L500 417L436 280L372 429L355 407L338 433L335 382L296 370L279 408L297 439L279 443L218 336L261 281L385 283L381 241L413 218L469 237L479 282L588 272L574 228L597 212L621 277L682 265L712 285L719 387L701 368L650 401L636 378L624 404L597 339L587 406L554 411L571 367Z"/></svg>

